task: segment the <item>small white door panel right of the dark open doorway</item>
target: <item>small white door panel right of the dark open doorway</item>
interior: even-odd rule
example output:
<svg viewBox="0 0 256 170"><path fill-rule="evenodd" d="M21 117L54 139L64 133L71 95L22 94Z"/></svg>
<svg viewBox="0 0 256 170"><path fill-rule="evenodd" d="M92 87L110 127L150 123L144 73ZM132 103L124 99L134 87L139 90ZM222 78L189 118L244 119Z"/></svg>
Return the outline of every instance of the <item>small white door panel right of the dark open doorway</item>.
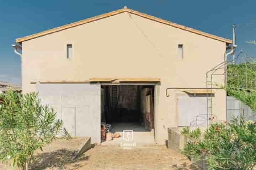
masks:
<svg viewBox="0 0 256 170"><path fill-rule="evenodd" d="M180 96L178 98L178 110L178 126L189 126L194 120L196 120L196 116L199 114L205 114L202 117L206 118L206 97ZM204 118L199 118L202 120L198 121L198 123L202 124Z"/></svg>

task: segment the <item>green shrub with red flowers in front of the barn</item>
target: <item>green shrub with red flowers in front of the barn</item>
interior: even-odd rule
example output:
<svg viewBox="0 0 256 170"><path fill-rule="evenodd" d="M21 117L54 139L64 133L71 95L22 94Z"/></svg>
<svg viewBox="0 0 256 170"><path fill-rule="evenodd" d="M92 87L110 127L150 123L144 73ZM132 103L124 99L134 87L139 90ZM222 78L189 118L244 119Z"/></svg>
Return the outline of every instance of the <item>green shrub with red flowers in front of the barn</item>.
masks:
<svg viewBox="0 0 256 170"><path fill-rule="evenodd" d="M252 170L256 164L256 125L244 118L214 123L202 134L183 128L189 141L183 154L193 160L204 158L210 170Z"/></svg>

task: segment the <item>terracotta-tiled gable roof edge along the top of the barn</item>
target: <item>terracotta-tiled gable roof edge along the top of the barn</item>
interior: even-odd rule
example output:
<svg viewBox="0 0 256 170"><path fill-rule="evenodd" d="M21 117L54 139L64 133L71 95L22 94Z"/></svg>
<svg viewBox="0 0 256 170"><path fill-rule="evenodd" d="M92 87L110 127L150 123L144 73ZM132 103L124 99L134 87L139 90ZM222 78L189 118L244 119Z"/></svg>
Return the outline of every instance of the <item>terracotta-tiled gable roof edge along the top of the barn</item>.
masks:
<svg viewBox="0 0 256 170"><path fill-rule="evenodd" d="M43 31L43 32L40 32L40 33L24 36L22 38L17 38L16 42L21 43L23 41L31 40L31 39L34 39L34 38L37 38L37 37L40 37L40 36L44 36L44 35L51 34L51 33L54 33L54 32L58 32L58 31L61 31L61 30L64 30L64 29L72 28L72 27L75 27L75 26L80 26L80 25L85 24L85 23L93 22L93 21L96 21L96 20L99 20L99 19L102 19L102 18L117 15L117 14L123 13L123 12L129 12L129 13L132 13L134 15L138 15L138 16L141 16L141 17L144 17L144 18L151 19L151 20L156 21L156 22L167 24L167 25L172 26L172 27L180 28L180 29L183 29L183 30L195 33L195 34L206 36L208 38L212 38L212 39L215 39L215 40L226 42L227 44L232 43L232 40L225 39L225 38L222 38L222 37L219 37L219 36L216 36L216 35L204 33L202 31L199 31L199 30L196 30L196 29L193 29L193 28L182 26L182 25L179 25L179 24L176 24L176 23L172 23L170 21L166 21L166 20L161 19L161 18L156 18L154 16L150 16L150 15L147 15L145 13L134 11L134 10L128 9L126 6L122 9L119 9L119 10L116 10L116 11L104 13L102 15L98 15L98 16L95 16L95 17L92 17L92 18L83 19L83 20L80 20L78 22L73 22L73 23L66 24L64 26L56 27L56 28L53 28L53 29L49 29L49 30L46 30L46 31Z"/></svg>

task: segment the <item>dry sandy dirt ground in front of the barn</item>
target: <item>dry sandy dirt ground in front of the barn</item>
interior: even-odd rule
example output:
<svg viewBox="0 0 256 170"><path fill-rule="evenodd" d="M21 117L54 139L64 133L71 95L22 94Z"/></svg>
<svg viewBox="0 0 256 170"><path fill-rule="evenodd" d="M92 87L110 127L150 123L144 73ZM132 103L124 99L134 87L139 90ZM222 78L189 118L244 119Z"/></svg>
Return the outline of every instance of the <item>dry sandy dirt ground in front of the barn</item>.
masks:
<svg viewBox="0 0 256 170"><path fill-rule="evenodd" d="M36 154L31 170L197 170L182 154L162 145L120 146L92 145L92 148L71 161L83 142L81 138L54 141ZM12 170L0 164L0 170Z"/></svg>

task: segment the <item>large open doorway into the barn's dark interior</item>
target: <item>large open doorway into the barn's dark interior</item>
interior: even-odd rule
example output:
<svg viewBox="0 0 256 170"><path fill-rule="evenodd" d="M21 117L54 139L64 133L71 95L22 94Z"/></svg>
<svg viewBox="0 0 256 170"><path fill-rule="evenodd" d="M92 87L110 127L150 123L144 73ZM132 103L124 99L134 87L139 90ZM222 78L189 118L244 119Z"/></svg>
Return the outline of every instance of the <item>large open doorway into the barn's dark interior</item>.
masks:
<svg viewBox="0 0 256 170"><path fill-rule="evenodd" d="M101 85L101 123L107 132L121 137L103 141L116 145L123 140L123 131L133 131L137 144L154 141L154 86L153 85Z"/></svg>

